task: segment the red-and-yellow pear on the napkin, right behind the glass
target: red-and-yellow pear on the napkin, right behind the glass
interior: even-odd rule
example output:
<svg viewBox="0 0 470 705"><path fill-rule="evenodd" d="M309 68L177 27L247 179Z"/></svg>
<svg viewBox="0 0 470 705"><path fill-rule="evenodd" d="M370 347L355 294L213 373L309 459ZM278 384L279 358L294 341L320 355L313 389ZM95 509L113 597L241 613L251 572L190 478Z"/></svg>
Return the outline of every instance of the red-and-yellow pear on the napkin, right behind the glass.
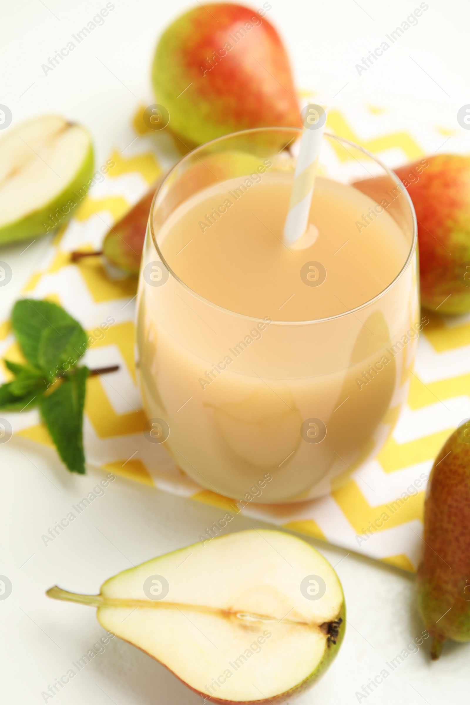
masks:
<svg viewBox="0 0 470 705"><path fill-rule="evenodd" d="M442 314L469 311L470 157L437 154L395 173L416 211L423 306Z"/></svg>

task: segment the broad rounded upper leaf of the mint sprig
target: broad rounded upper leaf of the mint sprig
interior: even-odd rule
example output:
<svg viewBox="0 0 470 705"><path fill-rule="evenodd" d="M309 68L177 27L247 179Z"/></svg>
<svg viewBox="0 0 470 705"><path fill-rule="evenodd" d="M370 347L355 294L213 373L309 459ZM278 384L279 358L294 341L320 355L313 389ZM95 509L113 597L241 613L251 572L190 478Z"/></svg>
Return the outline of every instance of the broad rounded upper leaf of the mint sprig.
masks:
<svg viewBox="0 0 470 705"><path fill-rule="evenodd" d="M87 348L87 334L82 326L51 301L17 301L11 326L27 362L42 368L49 379L69 357L78 360Z"/></svg>

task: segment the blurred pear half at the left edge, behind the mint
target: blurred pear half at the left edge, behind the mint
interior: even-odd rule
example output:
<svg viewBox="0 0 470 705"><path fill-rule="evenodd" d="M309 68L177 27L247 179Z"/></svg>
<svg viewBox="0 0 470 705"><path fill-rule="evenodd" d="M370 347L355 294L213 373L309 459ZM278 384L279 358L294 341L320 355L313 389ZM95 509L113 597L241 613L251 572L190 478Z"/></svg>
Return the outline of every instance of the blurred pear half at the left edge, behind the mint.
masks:
<svg viewBox="0 0 470 705"><path fill-rule="evenodd" d="M45 235L86 195L93 147L81 125L45 115L0 140L0 244Z"/></svg>

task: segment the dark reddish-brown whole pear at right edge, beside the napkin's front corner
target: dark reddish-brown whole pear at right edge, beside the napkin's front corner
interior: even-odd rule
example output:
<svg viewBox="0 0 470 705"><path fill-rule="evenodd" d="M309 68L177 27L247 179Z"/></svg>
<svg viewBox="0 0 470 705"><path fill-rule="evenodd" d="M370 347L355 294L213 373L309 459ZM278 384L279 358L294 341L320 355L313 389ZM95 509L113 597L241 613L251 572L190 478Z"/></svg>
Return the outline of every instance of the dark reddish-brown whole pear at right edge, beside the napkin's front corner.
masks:
<svg viewBox="0 0 470 705"><path fill-rule="evenodd" d="M470 641L470 420L447 439L431 471L416 586L431 658L446 639Z"/></svg>

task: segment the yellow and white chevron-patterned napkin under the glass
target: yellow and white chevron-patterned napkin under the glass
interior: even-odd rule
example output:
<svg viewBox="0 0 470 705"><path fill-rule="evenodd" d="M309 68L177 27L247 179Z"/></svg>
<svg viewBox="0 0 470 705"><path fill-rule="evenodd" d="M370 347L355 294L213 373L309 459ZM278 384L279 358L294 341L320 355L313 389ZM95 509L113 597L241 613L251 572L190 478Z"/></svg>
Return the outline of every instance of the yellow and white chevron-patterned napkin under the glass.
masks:
<svg viewBox="0 0 470 705"><path fill-rule="evenodd" d="M85 355L89 367L119 365L118 372L87 381L87 463L220 507L220 524L208 527L209 538L226 523L227 513L239 511L235 502L199 487L161 446L148 443L142 434L146 419L134 362L137 279L120 278L99 257L70 262L73 250L99 250L109 226L142 197L161 168L178 159L167 137L145 128L142 112L143 108L137 111L132 125L123 130L111 154L114 166L99 177L70 222L58 231L23 295L53 300L80 321L90 336ZM432 126L423 133L421 124L392 130L400 119L371 106L355 106L349 113L332 109L327 129L370 149L391 166L433 152L440 140L452 136L452 130ZM458 146L453 149L458 151ZM338 166L347 168L340 164L344 154L341 150L333 156ZM0 324L0 357L20 359L8 321ZM0 381L7 379L9 373L1 363ZM250 501L243 513L416 570L426 479L447 436L470 417L469 397L470 316L430 316L419 342L407 405L378 458L354 467L353 479L328 496L290 505ZM52 445L37 410L2 416L14 435Z"/></svg>

